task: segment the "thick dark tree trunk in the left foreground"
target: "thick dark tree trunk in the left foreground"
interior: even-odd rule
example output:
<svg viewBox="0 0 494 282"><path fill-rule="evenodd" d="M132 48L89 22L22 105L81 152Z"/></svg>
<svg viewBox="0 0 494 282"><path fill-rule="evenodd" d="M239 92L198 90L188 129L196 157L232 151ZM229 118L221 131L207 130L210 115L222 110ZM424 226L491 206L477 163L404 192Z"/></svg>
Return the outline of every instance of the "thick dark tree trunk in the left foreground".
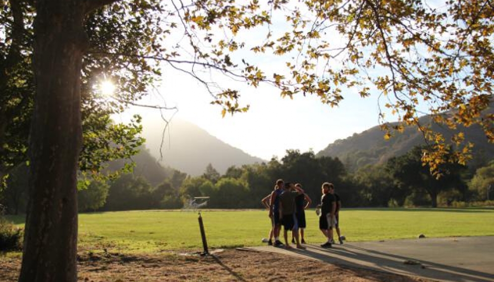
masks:
<svg viewBox="0 0 494 282"><path fill-rule="evenodd" d="M75 282L80 73L87 46L84 7L81 0L38 0L36 12L36 98L19 281Z"/></svg>

